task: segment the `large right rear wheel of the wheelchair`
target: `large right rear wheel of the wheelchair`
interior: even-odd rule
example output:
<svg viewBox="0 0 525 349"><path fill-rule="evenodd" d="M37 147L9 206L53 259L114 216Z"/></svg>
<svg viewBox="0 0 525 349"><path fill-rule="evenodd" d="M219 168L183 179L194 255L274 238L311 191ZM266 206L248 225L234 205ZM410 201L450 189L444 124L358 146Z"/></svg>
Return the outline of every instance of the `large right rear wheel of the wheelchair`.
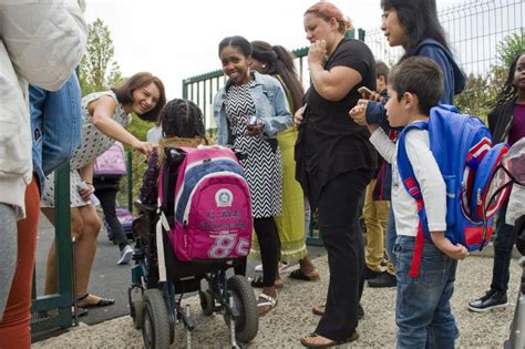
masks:
<svg viewBox="0 0 525 349"><path fill-rule="evenodd" d="M254 290L248 280L240 275L234 275L228 279L228 289L234 297L234 307L239 311L239 318L235 321L235 336L238 341L247 343L257 336L259 330L259 312ZM225 312L224 320L230 326L229 315Z"/></svg>

